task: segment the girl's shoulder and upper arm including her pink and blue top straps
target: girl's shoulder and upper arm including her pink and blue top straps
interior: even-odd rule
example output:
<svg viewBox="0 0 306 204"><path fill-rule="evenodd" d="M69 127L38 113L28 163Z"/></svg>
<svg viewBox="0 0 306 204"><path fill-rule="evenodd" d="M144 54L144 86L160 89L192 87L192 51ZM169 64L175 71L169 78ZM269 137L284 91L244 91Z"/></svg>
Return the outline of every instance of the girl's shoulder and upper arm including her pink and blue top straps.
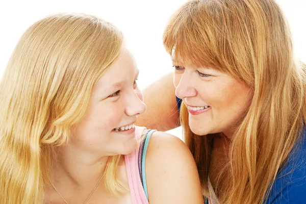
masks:
<svg viewBox="0 0 306 204"><path fill-rule="evenodd" d="M203 203L196 164L173 135L137 127L139 147L125 156L134 203Z"/></svg>

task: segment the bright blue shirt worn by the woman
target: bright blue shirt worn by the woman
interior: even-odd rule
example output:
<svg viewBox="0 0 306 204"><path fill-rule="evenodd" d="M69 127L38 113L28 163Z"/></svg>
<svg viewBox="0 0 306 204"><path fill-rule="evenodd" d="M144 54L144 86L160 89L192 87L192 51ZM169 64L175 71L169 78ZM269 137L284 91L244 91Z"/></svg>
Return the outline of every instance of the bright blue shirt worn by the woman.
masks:
<svg viewBox="0 0 306 204"><path fill-rule="evenodd" d="M177 108L182 100L176 97ZM279 170L266 204L306 203L306 128Z"/></svg>

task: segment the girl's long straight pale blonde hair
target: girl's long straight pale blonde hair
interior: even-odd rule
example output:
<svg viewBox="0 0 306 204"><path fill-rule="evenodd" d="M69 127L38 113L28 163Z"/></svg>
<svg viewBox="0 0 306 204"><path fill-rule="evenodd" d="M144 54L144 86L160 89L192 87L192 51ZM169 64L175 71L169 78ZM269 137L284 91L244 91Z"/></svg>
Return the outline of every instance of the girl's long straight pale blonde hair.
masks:
<svg viewBox="0 0 306 204"><path fill-rule="evenodd" d="M55 147L84 116L91 90L120 54L122 34L85 14L57 14L21 37L0 84L0 203L42 203ZM105 183L123 186L110 157Z"/></svg>

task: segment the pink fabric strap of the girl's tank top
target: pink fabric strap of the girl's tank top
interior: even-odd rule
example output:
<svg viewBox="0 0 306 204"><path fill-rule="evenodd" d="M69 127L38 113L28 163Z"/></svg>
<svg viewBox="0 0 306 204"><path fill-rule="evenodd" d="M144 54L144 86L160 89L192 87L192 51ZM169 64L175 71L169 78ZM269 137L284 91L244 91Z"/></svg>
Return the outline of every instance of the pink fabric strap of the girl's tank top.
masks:
<svg viewBox="0 0 306 204"><path fill-rule="evenodd" d="M135 128L136 128L135 132L136 138L140 139L143 131L145 130L145 127L136 126ZM124 156L127 180L129 181L133 204L149 204L149 201L146 198L140 180L140 173L138 168L138 154L139 154L139 146L131 154Z"/></svg>

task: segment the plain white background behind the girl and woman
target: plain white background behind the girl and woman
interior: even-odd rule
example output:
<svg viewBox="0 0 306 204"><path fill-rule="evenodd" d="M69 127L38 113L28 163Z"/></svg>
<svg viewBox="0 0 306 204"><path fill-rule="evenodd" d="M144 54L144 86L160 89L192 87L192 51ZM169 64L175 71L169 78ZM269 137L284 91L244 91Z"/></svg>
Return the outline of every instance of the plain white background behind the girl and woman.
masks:
<svg viewBox="0 0 306 204"><path fill-rule="evenodd" d="M145 88L172 70L162 44L171 14L186 0L100 0L100 1L4 1L0 0L0 77L22 35L35 21L58 12L96 15L115 24L124 34L127 47L140 69L138 84ZM277 0L291 25L296 56L306 61L306 1ZM182 137L181 130L170 131Z"/></svg>

